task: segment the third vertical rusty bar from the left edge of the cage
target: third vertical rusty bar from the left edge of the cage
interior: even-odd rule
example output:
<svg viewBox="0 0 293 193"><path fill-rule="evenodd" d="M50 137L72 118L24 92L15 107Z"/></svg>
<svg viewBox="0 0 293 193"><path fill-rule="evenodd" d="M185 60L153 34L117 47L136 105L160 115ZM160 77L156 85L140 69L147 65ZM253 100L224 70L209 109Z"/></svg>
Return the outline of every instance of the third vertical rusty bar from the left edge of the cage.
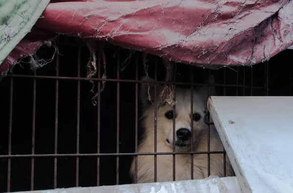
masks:
<svg viewBox="0 0 293 193"><path fill-rule="evenodd" d="M56 76L59 76L59 54L56 54ZM58 149L58 99L59 99L59 80L56 80L55 91L55 144L54 154L57 155ZM54 158L54 189L57 188L57 157Z"/></svg>

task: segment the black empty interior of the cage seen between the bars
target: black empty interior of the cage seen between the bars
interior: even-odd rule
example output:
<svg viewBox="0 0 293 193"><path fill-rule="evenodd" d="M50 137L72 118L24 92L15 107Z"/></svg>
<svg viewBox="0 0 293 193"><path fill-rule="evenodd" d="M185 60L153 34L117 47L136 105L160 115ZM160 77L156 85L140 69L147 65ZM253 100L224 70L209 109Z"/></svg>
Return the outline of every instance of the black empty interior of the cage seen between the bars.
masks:
<svg viewBox="0 0 293 193"><path fill-rule="evenodd" d="M77 77L78 70L78 39L60 37L58 44L60 55L59 76ZM120 63L128 58L130 52L114 46L106 46L107 77L117 78L117 56L120 53ZM49 59L53 49L43 48L38 56ZM86 65L89 51L82 45L81 77L86 76ZM97 54L99 54L97 52ZM289 96L292 88L293 50L286 50L272 57L269 61L269 95ZM98 57L98 56L97 56ZM120 72L121 79L136 77L136 58L139 61L139 77L144 75L142 53L131 55L129 65ZM162 59L147 55L148 72L154 77L155 61L158 62L158 80L164 80L166 71ZM33 75L23 59L16 65L14 74ZM127 63L127 62L126 62ZM120 68L120 67L119 67ZM103 69L103 68L102 68ZM264 87L265 63L251 67L222 68L207 70L177 65L177 81L190 82L190 71L194 72L194 82L203 83L208 73L215 75L217 84L246 85L248 88L217 87L219 95L258 95L265 94ZM37 75L55 76L56 60L37 70ZM103 71L102 71L103 74ZM97 77L97 76L95 76ZM55 84L54 79L37 79L36 82L36 141L35 154L54 154L55 135ZM116 153L117 129L117 83L106 82L105 90L101 94L101 114L98 115L97 106L92 104L92 97L97 91L90 92L92 84L81 81L80 101L80 153L97 153L97 119L101 117L101 153ZM8 126L9 126L9 96L10 78L4 77L0 81L0 155L8 154ZM14 78L13 83L13 115L12 115L12 154L31 154L32 143L32 104L33 79ZM58 115L58 154L75 154L77 138L77 81L59 81L59 115ZM135 148L135 83L120 83L120 152L132 153ZM119 184L131 183L128 175L131 156L120 157ZM97 158L81 157L79 159L79 186L97 185ZM0 192L7 191L7 158L0 158ZM75 186L76 158L58 158L57 188ZM11 192L29 191L31 178L31 158L11 159ZM35 158L34 190L53 189L54 158ZM116 157L100 158L100 185L116 184Z"/></svg>

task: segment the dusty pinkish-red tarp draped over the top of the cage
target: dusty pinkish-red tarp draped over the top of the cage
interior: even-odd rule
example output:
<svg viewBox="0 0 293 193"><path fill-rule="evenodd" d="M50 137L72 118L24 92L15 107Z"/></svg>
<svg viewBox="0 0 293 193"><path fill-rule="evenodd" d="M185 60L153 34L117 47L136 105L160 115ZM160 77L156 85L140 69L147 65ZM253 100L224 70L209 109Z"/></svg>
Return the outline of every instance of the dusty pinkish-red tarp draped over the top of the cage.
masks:
<svg viewBox="0 0 293 193"><path fill-rule="evenodd" d="M293 44L293 0L51 0L0 72L54 33L211 69L252 65Z"/></svg>

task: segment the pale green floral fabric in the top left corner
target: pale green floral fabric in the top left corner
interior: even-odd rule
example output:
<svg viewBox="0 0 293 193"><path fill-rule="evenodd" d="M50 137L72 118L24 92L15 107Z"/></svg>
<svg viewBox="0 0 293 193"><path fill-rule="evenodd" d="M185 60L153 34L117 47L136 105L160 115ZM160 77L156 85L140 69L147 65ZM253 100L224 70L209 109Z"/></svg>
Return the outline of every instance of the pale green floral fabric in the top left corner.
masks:
<svg viewBox="0 0 293 193"><path fill-rule="evenodd" d="M32 29L50 0L0 0L0 65Z"/></svg>

